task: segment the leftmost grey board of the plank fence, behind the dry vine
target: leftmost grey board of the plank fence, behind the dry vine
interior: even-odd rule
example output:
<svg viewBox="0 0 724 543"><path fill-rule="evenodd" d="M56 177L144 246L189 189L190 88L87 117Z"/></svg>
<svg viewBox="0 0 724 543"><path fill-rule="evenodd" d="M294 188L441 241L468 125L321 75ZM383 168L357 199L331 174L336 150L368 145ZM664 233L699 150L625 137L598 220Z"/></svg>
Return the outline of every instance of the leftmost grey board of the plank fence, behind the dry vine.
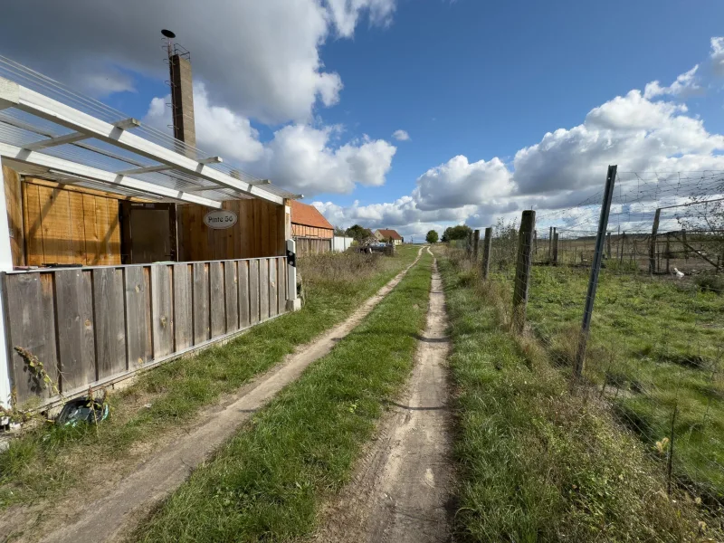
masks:
<svg viewBox="0 0 724 543"><path fill-rule="evenodd" d="M33 378L24 359L14 347L22 347L43 362L51 376L56 376L55 326L51 315L43 314L43 287L40 273L5 276L7 303L8 348L12 359L13 386L19 405L33 396L48 397L51 391Z"/></svg>

